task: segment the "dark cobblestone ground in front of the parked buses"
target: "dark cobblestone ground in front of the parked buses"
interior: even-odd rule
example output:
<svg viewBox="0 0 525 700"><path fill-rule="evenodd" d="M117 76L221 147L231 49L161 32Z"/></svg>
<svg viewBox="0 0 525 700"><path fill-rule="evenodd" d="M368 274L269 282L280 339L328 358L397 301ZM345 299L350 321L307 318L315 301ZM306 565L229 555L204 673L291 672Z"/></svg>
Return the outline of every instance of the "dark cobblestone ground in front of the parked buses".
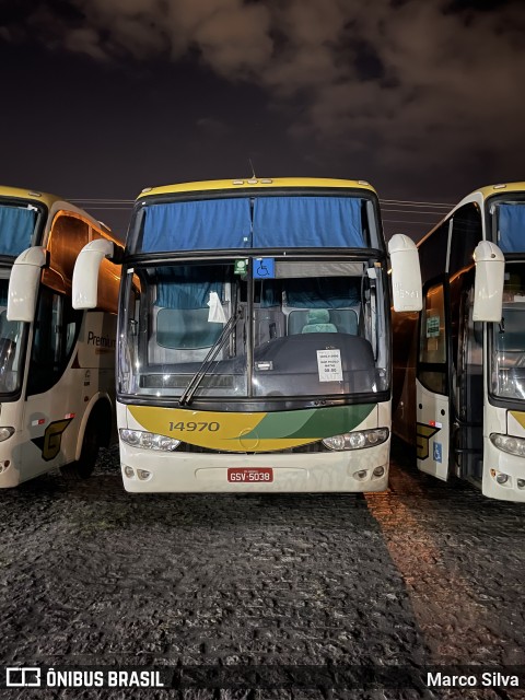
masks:
<svg viewBox="0 0 525 700"><path fill-rule="evenodd" d="M400 455L364 497L127 494L115 451L86 481L1 491L1 664L140 665L176 688L0 697L525 698L424 682L524 681L525 508Z"/></svg>

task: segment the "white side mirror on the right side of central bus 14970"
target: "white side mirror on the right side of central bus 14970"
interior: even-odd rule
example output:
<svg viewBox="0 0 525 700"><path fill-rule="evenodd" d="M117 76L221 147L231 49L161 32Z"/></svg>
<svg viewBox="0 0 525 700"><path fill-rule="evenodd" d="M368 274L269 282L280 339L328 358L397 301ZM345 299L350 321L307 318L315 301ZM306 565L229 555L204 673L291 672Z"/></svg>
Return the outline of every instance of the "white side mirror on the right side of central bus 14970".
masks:
<svg viewBox="0 0 525 700"><path fill-rule="evenodd" d="M400 233L388 242L394 311L421 311L422 284L419 254L411 238Z"/></svg>

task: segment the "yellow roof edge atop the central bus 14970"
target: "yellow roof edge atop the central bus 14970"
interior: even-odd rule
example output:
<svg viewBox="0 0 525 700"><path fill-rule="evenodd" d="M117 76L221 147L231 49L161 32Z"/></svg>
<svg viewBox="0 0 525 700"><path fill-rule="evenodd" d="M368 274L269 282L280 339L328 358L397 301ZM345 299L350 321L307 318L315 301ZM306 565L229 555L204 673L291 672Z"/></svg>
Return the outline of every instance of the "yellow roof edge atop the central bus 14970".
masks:
<svg viewBox="0 0 525 700"><path fill-rule="evenodd" d="M283 187L299 188L352 188L363 189L377 194L375 189L364 179L331 179L328 177L245 177L238 179L211 179L197 183L177 183L161 187L147 187L141 191L138 200L144 197L155 197L158 195L178 195L184 192L210 191L210 190L235 190L235 189L280 189Z"/></svg>

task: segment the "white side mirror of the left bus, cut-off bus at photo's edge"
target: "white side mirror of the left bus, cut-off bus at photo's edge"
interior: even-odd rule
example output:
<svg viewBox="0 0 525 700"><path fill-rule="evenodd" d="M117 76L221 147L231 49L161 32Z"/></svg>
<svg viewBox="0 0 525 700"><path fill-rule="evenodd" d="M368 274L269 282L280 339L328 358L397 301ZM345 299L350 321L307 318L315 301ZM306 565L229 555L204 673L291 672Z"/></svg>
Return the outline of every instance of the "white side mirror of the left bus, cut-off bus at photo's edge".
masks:
<svg viewBox="0 0 525 700"><path fill-rule="evenodd" d="M32 246L15 259L9 278L8 320L34 320L42 268L46 265L43 246Z"/></svg>

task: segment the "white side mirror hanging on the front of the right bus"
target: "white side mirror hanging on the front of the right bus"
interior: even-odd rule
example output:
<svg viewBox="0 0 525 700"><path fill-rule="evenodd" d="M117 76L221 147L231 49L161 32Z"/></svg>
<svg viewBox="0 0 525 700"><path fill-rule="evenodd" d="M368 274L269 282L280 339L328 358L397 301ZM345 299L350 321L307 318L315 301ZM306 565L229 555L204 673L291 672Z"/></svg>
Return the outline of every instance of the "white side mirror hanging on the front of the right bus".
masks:
<svg viewBox="0 0 525 700"><path fill-rule="evenodd" d="M499 322L503 306L505 258L490 241L481 241L474 252L476 278L474 282L474 320Z"/></svg>

